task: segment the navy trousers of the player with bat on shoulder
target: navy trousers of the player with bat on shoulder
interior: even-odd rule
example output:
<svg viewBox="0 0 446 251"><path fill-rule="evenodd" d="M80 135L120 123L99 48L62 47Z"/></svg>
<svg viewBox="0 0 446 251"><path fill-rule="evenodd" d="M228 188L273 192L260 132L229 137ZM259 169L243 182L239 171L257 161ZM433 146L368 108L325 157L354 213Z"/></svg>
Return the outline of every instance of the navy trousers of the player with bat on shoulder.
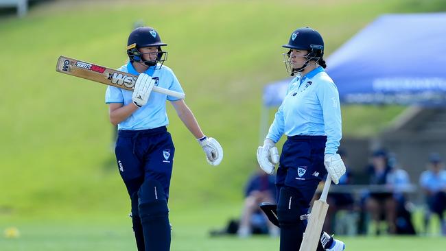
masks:
<svg viewBox="0 0 446 251"><path fill-rule="evenodd" d="M175 154L172 137L167 132L165 126L148 130L119 130L115 154L119 174L121 174L121 178L124 180L124 184L126 184L128 195L130 195L132 224L138 250L143 251L147 247L156 248L157 250L168 250L170 246L169 230L153 232L150 226L154 226L154 222L152 222L152 225L143 228L141 222L142 215L139 215L138 191L143 182L155 180L156 184L161 184L166 196L165 202L167 202ZM152 184L154 183L152 182ZM169 228L167 215L166 219L155 223L157 224L156 226L161 228ZM150 239L162 239L163 243L150 242Z"/></svg>

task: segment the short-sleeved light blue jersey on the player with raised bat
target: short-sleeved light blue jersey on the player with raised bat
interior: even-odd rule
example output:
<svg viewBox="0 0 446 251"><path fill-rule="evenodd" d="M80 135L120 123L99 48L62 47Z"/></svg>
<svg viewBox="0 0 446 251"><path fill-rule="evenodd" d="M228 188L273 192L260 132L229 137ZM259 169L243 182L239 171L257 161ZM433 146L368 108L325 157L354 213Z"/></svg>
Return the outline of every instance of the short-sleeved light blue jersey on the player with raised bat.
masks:
<svg viewBox="0 0 446 251"><path fill-rule="evenodd" d="M133 68L132 63L123 65L118 69L119 71L124 71L130 74L139 75L139 73ZM176 79L176 76L172 69L163 65L161 69L154 70L150 67L145 71L148 75L152 77L158 77L159 81L155 86L166 88L178 93L184 93L183 88L181 88L180 83ZM124 106L132 103L132 91L127 91L115 86L108 86L105 102L110 103L122 103ZM159 128L160 126L169 124L169 119L167 119L166 114L166 101L179 100L177 97L172 97L169 95L156 93L152 91L145 106L138 108L135 112L130 115L126 120L121 121L118 124L118 130L144 130L150 128Z"/></svg>

